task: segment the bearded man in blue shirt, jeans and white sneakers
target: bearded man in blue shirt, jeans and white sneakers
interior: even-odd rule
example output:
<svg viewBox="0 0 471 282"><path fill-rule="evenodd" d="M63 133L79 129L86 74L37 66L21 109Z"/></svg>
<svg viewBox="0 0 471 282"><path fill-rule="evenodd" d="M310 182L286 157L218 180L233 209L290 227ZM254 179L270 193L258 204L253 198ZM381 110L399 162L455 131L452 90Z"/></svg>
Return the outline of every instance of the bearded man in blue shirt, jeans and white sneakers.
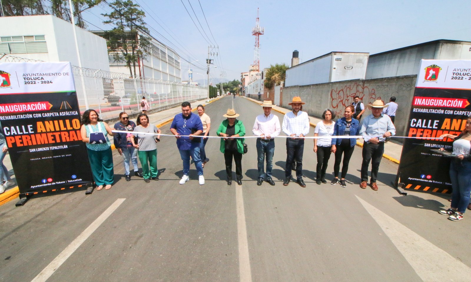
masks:
<svg viewBox="0 0 471 282"><path fill-rule="evenodd" d="M203 185L203 166L201 164L199 147L201 140L199 137L194 137L203 133L203 123L198 115L192 114L191 104L189 102L183 102L181 104L181 114L173 118L170 131L175 135L175 138L177 138L177 147L180 151L181 160L183 161L183 177L179 183L184 184L190 179L188 175L190 173L191 156L195 162L196 171L198 172L199 183Z"/></svg>

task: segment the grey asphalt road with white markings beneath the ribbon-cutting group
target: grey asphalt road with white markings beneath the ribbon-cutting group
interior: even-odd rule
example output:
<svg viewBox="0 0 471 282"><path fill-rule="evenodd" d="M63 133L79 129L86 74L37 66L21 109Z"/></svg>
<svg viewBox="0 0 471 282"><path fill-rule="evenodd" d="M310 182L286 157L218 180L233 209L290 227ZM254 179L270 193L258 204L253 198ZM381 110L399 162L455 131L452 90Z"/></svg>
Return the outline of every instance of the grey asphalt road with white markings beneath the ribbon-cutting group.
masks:
<svg viewBox="0 0 471 282"><path fill-rule="evenodd" d="M211 135L232 103L247 135L257 104L224 97L206 107ZM195 105L194 105L195 106ZM279 116L282 121L283 116ZM169 133L169 125L162 128ZM309 136L314 134L311 128ZM179 185L182 164L173 137L162 137L160 181L124 180L114 151L109 191L53 194L0 206L0 281L470 281L470 223L437 211L446 195L392 187L398 166L382 160L379 191L361 189L361 148L348 184L317 185L316 155L306 141L306 188L282 185L285 141L276 140L275 186L256 185L255 140L242 159L242 186L228 186L219 140L206 145L206 183ZM234 166L235 169L235 166ZM333 171L333 157L328 180ZM235 177L234 177L235 179ZM53 263L51 263L53 262ZM39 275L38 275L39 274ZM37 276L38 275L38 276Z"/></svg>

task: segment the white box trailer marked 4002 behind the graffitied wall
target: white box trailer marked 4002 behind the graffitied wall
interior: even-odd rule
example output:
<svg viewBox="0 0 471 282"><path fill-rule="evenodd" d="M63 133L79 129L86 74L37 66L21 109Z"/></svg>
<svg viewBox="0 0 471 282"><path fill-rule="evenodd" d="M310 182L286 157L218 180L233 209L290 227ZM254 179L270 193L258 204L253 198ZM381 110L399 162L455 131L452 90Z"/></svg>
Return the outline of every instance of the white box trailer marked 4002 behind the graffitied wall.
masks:
<svg viewBox="0 0 471 282"><path fill-rule="evenodd" d="M286 70L285 87L365 79L369 53L331 52Z"/></svg>

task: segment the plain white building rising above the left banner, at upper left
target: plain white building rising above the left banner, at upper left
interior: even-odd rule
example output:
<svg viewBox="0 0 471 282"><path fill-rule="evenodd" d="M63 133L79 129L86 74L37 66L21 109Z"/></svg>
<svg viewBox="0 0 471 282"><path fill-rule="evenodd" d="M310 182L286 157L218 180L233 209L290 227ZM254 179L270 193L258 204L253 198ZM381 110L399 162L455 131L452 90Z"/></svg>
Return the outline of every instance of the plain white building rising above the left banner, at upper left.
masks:
<svg viewBox="0 0 471 282"><path fill-rule="evenodd" d="M110 70L105 39L65 20L51 15L0 17L0 25L4 27L0 54L80 66L73 36L75 28L81 66Z"/></svg>

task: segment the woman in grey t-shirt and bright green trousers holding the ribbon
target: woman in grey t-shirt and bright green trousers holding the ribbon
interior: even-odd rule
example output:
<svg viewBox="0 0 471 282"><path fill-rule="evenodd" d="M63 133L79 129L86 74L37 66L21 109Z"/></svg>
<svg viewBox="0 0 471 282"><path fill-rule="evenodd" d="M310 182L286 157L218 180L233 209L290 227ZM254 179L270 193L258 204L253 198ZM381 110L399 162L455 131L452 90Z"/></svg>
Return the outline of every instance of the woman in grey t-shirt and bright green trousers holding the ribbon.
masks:
<svg viewBox="0 0 471 282"><path fill-rule="evenodd" d="M160 129L154 124L149 124L149 117L146 114L140 114L136 124L137 126L134 128L134 148L138 149L138 158L141 162L144 181L149 183L150 179L159 180L159 177L157 177L157 142L160 141L160 135L142 133L160 133Z"/></svg>

